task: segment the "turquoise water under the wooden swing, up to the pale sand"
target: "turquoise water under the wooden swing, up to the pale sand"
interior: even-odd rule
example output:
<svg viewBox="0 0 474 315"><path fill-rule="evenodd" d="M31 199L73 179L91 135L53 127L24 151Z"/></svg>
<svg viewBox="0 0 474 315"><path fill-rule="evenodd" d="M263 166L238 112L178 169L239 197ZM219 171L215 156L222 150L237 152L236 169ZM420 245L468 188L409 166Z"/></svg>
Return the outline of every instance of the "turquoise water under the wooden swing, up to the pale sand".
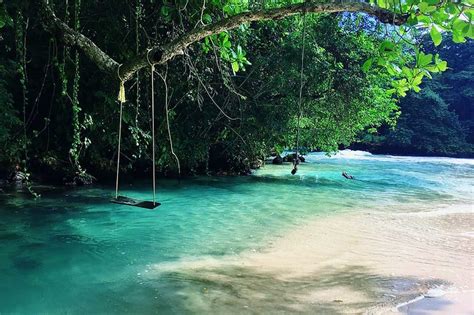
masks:
<svg viewBox="0 0 474 315"><path fill-rule="evenodd" d="M260 251L320 215L473 203L474 160L344 151L311 154L297 176L290 170L161 180L155 211L109 203L111 187L47 190L36 201L0 195L0 313L199 313L194 295L211 281L157 265ZM122 194L151 193L124 183Z"/></svg>

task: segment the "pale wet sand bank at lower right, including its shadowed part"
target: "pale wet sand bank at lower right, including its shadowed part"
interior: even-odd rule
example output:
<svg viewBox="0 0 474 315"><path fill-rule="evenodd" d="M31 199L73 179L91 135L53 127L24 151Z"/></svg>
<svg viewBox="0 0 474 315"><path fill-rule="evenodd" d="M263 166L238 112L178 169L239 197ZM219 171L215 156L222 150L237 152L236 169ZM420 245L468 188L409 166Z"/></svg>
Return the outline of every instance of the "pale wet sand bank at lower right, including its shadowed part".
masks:
<svg viewBox="0 0 474 315"><path fill-rule="evenodd" d="M198 283L202 294L178 294L204 313L473 314L472 206L378 210L318 217L263 249L155 270ZM446 294L420 299L430 289Z"/></svg>

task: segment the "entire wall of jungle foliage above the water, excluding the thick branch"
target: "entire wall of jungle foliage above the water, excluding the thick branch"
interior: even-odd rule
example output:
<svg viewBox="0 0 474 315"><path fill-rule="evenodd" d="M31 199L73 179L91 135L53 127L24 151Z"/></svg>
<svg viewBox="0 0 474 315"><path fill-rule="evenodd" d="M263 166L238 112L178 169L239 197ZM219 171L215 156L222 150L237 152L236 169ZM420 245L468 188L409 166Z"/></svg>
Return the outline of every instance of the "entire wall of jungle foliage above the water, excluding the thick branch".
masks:
<svg viewBox="0 0 474 315"><path fill-rule="evenodd" d="M46 32L37 2L0 2L0 169L6 175L17 165L42 179L73 183L87 182L89 174L111 177L118 78L65 44L61 32ZM377 4L400 14L422 12L407 23L427 28L435 45L443 30L452 32L456 43L473 37L472 3L432 2ZM116 60L128 60L199 25L293 1L45 3L69 28ZM423 92L400 103L408 91L420 91L424 77L447 68L438 55L419 49L423 34L367 14L332 13L242 23L208 36L156 66L154 92L150 69L126 82L121 171L135 177L150 173L151 93L158 171L170 176L178 166L173 149L183 174L245 173L271 152L294 148L297 126L305 150L335 151L369 131L371 142L393 142L410 152L460 152L466 141L472 143L473 94L466 81L472 81L472 61L450 58L441 49L455 71L436 76ZM459 84L463 92L447 88ZM389 131L400 108L399 125ZM385 130L381 134L379 127Z"/></svg>

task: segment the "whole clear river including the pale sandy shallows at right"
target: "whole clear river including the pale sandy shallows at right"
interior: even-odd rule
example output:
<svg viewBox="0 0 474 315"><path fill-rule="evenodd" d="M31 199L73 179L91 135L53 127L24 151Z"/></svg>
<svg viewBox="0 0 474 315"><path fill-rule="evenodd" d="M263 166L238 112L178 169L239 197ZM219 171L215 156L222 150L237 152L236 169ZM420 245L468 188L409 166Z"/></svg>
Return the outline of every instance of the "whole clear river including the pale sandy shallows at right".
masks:
<svg viewBox="0 0 474 315"><path fill-rule="evenodd" d="M0 313L383 313L474 289L474 160L306 160L295 176L159 180L154 211L105 186L2 194Z"/></svg>

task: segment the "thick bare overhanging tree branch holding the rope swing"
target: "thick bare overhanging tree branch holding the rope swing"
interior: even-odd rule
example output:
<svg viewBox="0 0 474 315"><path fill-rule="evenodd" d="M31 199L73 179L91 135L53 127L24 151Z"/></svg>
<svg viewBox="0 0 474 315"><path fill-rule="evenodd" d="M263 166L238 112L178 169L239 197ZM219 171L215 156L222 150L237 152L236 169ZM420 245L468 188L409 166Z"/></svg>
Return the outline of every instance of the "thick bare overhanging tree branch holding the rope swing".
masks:
<svg viewBox="0 0 474 315"><path fill-rule="evenodd" d="M51 33L57 33L67 44L75 45L82 49L84 53L97 66L109 74L117 76L119 64L102 51L89 38L83 34L72 30L58 19L54 12L47 5L47 0L41 2L41 13L43 15L43 25ZM329 1L327 3L305 2L301 4L288 5L281 8L263 9L253 12L244 12L221 21L193 29L184 35L176 38L164 45L155 45L143 54L126 61L120 67L120 77L127 81L133 74L149 65L149 60L154 64L165 64L178 55L182 55L187 47L210 35L232 30L244 23L279 20L285 17L301 13L338 13L338 12L362 12L376 17L383 23L401 25L407 21L408 16L396 14L392 11L372 6L364 2L341 2Z"/></svg>

